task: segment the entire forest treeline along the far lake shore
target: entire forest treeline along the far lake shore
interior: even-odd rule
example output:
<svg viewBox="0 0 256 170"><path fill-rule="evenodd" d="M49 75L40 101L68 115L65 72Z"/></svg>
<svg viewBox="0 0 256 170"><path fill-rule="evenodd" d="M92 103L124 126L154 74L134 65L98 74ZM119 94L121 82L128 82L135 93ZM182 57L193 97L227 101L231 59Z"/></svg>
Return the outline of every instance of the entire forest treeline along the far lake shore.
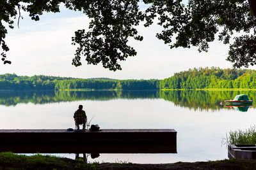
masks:
<svg viewBox="0 0 256 170"><path fill-rule="evenodd" d="M67 78L59 76L0 75L0 90L67 89L256 89L253 69L194 68L175 73L164 80L115 80L110 78Z"/></svg>

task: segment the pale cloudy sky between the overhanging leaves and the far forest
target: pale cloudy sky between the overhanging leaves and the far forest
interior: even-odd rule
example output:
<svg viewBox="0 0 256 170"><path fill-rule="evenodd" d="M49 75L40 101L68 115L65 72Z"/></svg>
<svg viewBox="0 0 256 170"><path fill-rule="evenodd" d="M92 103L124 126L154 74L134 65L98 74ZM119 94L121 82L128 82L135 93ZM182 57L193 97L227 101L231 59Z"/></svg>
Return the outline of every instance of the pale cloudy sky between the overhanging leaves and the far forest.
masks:
<svg viewBox="0 0 256 170"><path fill-rule="evenodd" d="M115 78L115 79L163 79L174 73L193 67L232 67L225 60L228 45L220 41L210 43L209 52L198 52L197 47L170 49L162 40L156 38L161 27L138 26L143 41L129 39L129 45L138 52L135 57L128 57L120 62L122 70L109 71L102 64L88 65L81 57L82 66L72 65L76 46L71 45L71 38L77 29L88 30L90 18L81 11L71 11L61 7L60 13L44 13L40 20L31 20L22 12L23 19L17 27L8 29L6 43L10 48L7 53L12 64L0 63L0 74L15 73L19 76L44 74L47 76L65 76L74 78ZM254 67L249 67L254 69Z"/></svg>

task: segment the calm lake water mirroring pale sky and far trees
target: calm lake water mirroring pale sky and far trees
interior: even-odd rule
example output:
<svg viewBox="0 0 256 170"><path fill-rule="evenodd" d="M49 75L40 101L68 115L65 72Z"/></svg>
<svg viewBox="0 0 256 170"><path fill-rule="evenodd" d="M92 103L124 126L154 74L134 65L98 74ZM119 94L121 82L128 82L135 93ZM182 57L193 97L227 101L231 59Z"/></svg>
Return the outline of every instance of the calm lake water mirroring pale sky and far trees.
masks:
<svg viewBox="0 0 256 170"><path fill-rule="evenodd" d="M229 131L256 123L256 103L239 111L220 105L237 94L255 101L255 91L0 92L0 129L74 128L83 104L91 124L102 129L175 129L177 153L100 153L89 162L170 163L227 159L221 141ZM75 158L74 154L55 154Z"/></svg>

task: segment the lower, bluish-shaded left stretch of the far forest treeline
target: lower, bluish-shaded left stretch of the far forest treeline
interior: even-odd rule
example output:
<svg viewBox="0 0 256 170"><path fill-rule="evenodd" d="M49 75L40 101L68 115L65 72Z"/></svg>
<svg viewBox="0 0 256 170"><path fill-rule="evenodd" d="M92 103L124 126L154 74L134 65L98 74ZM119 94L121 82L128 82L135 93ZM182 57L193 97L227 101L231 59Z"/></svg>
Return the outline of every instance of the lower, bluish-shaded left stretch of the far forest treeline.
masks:
<svg viewBox="0 0 256 170"><path fill-rule="evenodd" d="M115 80L110 78L66 78L56 76L0 75L0 90L66 90L66 89L159 89L159 80Z"/></svg>

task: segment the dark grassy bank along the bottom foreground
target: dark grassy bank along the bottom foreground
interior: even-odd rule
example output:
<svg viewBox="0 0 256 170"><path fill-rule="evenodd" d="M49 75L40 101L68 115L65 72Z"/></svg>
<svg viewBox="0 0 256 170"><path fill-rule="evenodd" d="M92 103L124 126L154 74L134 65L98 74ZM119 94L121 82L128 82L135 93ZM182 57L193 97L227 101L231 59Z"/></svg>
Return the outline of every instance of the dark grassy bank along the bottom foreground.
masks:
<svg viewBox="0 0 256 170"><path fill-rule="evenodd" d="M251 160L216 160L208 162L177 162L175 164L131 164L131 163L93 163L83 160L43 156L16 155L11 152L0 153L0 169L255 169Z"/></svg>

